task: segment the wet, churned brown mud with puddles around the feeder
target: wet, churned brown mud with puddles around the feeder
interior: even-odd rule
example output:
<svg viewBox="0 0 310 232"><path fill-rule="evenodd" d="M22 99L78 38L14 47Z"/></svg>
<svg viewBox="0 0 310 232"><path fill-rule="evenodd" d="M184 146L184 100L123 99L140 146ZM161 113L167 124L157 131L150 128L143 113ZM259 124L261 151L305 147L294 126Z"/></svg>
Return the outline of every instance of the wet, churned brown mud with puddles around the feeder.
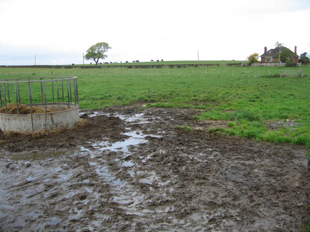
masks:
<svg viewBox="0 0 310 232"><path fill-rule="evenodd" d="M0 133L0 231L300 231L307 150L176 127L226 125L197 114L110 107L83 128Z"/></svg>

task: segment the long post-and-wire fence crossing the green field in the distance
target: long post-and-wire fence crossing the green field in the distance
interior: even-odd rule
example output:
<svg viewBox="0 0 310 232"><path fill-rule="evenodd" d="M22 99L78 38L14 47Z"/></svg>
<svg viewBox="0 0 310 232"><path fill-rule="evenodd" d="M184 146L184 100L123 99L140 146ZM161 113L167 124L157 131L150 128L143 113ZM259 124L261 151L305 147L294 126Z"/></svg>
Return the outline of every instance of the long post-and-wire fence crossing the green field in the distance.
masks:
<svg viewBox="0 0 310 232"><path fill-rule="evenodd" d="M283 68L281 68L283 69ZM301 70L302 68L294 68ZM277 67L200 67L200 68L135 68L128 69L6 69L0 68L0 78L36 77L36 76L205 76L205 77L278 77L280 70ZM310 76L310 69L304 70L303 75Z"/></svg>

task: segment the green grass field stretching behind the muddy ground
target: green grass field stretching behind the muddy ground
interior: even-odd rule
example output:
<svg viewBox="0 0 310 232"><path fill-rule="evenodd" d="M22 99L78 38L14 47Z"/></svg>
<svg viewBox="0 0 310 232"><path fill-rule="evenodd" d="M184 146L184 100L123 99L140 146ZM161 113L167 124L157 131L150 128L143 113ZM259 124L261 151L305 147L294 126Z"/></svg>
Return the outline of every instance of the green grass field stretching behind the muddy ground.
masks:
<svg viewBox="0 0 310 232"><path fill-rule="evenodd" d="M174 62L140 62L140 65L176 64ZM203 62L221 64L218 67L149 69L0 68L0 79L74 75L78 77L79 106L82 109L135 102L143 102L146 107L195 108L201 110L196 116L198 120L227 121L228 128L218 128L213 132L310 148L309 66L226 67L228 62L240 61L200 61ZM303 71L302 78L278 77L280 70L299 69ZM1 91L3 93L2 87ZM27 94L25 90L25 103ZM40 102L39 91L37 95L33 94L33 98ZM270 124L280 126L270 129Z"/></svg>

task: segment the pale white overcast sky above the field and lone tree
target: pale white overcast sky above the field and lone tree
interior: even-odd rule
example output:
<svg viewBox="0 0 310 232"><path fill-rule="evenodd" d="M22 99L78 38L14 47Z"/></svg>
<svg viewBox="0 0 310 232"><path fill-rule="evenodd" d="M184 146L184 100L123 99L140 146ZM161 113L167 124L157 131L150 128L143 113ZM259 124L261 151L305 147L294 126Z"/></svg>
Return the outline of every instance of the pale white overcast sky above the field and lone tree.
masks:
<svg viewBox="0 0 310 232"><path fill-rule="evenodd" d="M0 65L82 64L98 42L108 62L310 54L309 15L310 0L0 0Z"/></svg>

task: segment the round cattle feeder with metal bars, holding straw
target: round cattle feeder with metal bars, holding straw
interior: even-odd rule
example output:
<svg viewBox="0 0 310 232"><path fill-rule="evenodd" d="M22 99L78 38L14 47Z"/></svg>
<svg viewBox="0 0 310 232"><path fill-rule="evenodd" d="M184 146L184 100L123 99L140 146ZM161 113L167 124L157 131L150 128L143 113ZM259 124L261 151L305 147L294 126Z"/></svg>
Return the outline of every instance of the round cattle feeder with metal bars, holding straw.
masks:
<svg viewBox="0 0 310 232"><path fill-rule="evenodd" d="M9 103L16 104L16 114L9 114ZM30 107L30 114L20 112L21 104ZM34 106L42 107L44 113L34 113ZM0 108L5 111L0 113L2 132L70 129L79 120L77 77L47 76L0 80Z"/></svg>

